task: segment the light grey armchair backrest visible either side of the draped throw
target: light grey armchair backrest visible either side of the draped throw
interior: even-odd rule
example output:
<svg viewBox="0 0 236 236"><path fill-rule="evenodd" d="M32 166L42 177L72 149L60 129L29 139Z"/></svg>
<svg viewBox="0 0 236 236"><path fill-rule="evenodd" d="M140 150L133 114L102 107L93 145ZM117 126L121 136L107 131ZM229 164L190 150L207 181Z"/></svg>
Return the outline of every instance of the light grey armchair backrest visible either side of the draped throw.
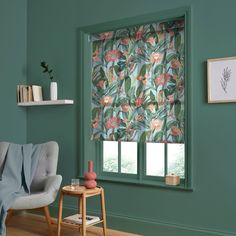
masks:
<svg viewBox="0 0 236 236"><path fill-rule="evenodd" d="M0 173L2 173L4 158L9 143L0 142ZM42 156L39 159L38 166L31 183L31 191L37 192L43 190L44 181L47 176L56 175L59 147L54 141L41 144L43 145Z"/></svg>

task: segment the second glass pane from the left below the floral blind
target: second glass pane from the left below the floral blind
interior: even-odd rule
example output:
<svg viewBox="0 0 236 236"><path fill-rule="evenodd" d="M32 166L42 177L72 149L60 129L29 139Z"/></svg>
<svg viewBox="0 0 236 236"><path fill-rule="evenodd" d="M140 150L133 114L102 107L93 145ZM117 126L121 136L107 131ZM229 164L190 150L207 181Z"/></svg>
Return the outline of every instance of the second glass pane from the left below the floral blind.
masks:
<svg viewBox="0 0 236 236"><path fill-rule="evenodd" d="M137 143L121 142L121 173L137 174Z"/></svg>

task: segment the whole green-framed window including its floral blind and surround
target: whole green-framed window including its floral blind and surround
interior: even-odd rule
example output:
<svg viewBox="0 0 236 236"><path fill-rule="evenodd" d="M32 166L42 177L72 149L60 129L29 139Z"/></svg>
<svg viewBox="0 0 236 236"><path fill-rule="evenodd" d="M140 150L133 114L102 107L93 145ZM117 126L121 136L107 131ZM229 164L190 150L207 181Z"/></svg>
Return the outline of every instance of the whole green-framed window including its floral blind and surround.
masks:
<svg viewBox="0 0 236 236"><path fill-rule="evenodd" d="M79 30L80 176L92 159L101 180L162 185L174 172L190 187L189 14L173 12L180 17L172 22L142 16L126 22L128 30L124 21ZM161 23L152 28L154 19Z"/></svg>

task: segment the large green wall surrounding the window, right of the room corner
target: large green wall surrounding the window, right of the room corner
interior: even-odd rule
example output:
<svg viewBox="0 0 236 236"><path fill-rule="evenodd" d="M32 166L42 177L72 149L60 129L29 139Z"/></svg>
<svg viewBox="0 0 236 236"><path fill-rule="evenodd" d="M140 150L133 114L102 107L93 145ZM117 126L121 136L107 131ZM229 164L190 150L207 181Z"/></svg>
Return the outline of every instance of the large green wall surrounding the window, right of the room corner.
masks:
<svg viewBox="0 0 236 236"><path fill-rule="evenodd" d="M75 104L29 108L27 140L58 141L58 172L63 184L68 183L78 173L81 158L78 28L180 7L191 8L193 76L187 79L192 92L193 192L100 182L105 188L108 226L145 236L236 235L236 105L207 104L206 86L206 60L235 56L235 0L28 1L28 83L44 85L48 97L49 80L39 66L46 60L55 70L59 98L72 98ZM90 212L99 211L96 203L89 202ZM69 199L65 206L73 211L76 202Z"/></svg>

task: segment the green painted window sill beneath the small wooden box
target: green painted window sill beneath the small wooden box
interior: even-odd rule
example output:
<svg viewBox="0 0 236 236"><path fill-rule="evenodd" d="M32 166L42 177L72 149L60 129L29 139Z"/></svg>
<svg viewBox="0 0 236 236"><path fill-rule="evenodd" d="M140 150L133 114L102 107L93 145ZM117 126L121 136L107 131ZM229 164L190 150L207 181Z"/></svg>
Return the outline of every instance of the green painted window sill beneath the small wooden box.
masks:
<svg viewBox="0 0 236 236"><path fill-rule="evenodd" d="M83 179L82 176L80 176ZM105 181L105 182L113 182L113 183L124 183L129 185L140 185L140 186L147 186L147 187L157 187L163 189L170 189L170 190L177 190L177 191L187 191L193 192L193 188L186 186L184 183L180 185L173 186L173 185L166 185L162 181L150 181L150 180L138 180L138 179L125 179L119 177L107 177L107 176L98 176L97 181Z"/></svg>

